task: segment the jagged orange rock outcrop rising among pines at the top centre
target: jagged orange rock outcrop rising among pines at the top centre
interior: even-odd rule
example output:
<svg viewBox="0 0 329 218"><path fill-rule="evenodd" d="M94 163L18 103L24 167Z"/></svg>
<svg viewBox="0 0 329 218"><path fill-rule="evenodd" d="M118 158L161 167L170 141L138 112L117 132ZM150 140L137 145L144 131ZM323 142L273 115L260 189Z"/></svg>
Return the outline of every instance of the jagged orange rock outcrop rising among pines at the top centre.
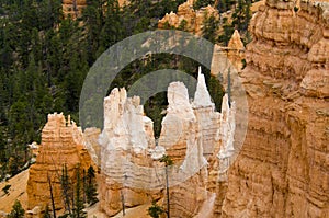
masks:
<svg viewBox="0 0 329 218"><path fill-rule="evenodd" d="M219 19L218 11L211 5L201 8L200 10L193 9L193 0L188 0L178 8L177 14L173 12L167 13L159 22L159 28L166 28L169 26L180 27L185 23L184 31L194 33L195 35L202 35L202 27L204 19L214 15Z"/></svg>

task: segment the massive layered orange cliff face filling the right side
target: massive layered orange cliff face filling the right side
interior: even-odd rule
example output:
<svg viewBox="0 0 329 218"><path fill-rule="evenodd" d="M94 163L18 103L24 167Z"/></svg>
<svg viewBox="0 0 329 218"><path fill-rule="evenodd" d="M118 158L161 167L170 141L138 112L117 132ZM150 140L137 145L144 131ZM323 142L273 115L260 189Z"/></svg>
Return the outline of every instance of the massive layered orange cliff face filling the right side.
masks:
<svg viewBox="0 0 329 218"><path fill-rule="evenodd" d="M249 127L223 217L329 217L328 14L326 2L268 0L253 16Z"/></svg>

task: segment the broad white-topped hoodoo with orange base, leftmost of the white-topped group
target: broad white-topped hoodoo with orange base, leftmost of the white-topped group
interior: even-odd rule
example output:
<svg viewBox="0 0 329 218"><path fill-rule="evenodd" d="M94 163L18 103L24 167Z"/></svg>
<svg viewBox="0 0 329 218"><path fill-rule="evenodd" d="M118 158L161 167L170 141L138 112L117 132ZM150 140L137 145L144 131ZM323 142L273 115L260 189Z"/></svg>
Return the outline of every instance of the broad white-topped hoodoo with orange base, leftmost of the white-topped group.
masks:
<svg viewBox="0 0 329 218"><path fill-rule="evenodd" d="M104 99L104 129L100 136L100 206L109 215L123 208L159 198L148 184L152 181L151 153L155 148L152 122L144 116L139 97L127 97L126 90L114 89ZM162 154L160 154L162 157Z"/></svg>

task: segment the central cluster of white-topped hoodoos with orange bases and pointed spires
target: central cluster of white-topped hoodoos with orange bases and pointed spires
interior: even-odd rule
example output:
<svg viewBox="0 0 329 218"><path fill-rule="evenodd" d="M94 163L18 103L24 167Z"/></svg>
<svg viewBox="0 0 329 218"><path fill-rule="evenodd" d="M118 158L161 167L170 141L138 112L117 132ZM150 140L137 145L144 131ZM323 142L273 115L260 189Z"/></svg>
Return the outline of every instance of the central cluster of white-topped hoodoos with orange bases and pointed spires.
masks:
<svg viewBox="0 0 329 218"><path fill-rule="evenodd" d="M152 122L144 115L139 97L127 97L125 89L114 89L105 97L100 200L109 216L123 205L166 198L166 176L171 216L212 215L216 184L227 173L219 162L228 162L235 150L235 104L229 107L225 95L222 113L216 112L201 71L192 103L182 82L170 83L168 102L160 138L155 140ZM163 154L174 162L167 170L159 162Z"/></svg>

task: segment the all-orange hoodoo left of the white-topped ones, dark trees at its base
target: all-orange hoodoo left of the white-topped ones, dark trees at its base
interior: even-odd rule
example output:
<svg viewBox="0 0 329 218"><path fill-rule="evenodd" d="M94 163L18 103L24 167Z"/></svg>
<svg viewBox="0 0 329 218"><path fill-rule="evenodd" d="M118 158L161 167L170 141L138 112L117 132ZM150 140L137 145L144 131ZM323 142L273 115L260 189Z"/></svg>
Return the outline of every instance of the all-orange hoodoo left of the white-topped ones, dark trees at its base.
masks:
<svg viewBox="0 0 329 218"><path fill-rule="evenodd" d="M27 182L29 209L52 205L49 181L56 209L63 209L60 176L64 165L75 183L77 170L88 169L91 159L84 149L82 131L75 122L65 119L63 114L49 114L43 128L42 144L36 162L30 168Z"/></svg>

